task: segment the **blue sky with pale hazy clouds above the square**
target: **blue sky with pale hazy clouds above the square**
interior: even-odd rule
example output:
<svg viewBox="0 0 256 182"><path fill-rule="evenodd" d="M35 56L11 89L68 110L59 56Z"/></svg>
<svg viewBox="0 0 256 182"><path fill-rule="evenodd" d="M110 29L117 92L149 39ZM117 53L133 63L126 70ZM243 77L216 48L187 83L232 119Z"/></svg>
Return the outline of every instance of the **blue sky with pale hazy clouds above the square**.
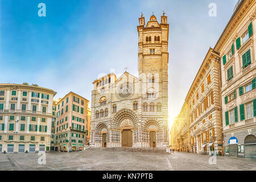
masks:
<svg viewBox="0 0 256 182"><path fill-rule="evenodd" d="M46 17L38 4L46 4ZM170 123L179 114L209 47L214 47L237 0L85 1L0 0L0 82L38 84L90 100L92 82L114 69L138 75L138 18L163 10L170 24ZM216 3L217 16L208 15Z"/></svg>

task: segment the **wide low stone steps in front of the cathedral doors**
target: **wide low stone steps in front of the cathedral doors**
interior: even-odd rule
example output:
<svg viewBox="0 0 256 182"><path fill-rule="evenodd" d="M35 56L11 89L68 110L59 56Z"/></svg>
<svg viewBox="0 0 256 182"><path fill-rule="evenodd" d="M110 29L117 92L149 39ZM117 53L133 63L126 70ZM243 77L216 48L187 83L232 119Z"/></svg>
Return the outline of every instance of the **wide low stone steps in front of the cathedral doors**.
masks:
<svg viewBox="0 0 256 182"><path fill-rule="evenodd" d="M166 148L134 148L134 147L90 147L92 150L124 151L124 152L151 152L168 154Z"/></svg>

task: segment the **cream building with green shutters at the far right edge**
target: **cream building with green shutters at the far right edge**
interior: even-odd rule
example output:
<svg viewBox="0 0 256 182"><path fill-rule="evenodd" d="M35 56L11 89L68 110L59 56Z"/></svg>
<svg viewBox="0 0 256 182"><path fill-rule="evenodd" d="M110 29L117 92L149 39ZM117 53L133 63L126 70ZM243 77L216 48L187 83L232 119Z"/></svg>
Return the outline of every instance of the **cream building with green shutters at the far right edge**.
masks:
<svg viewBox="0 0 256 182"><path fill-rule="evenodd" d="M221 56L225 155L256 158L256 1L237 4L214 50Z"/></svg>

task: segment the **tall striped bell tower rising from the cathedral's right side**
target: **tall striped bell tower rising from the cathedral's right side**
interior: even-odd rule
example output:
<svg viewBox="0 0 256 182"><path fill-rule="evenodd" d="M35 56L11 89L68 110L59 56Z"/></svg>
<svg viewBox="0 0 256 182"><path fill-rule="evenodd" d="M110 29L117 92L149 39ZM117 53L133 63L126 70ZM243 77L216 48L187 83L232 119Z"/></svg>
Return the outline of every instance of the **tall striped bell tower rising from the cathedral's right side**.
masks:
<svg viewBox="0 0 256 182"><path fill-rule="evenodd" d="M158 119L163 129L163 145L168 142L168 35L169 24L165 13L158 23L152 14L145 26L143 15L137 26L139 89L143 103L161 105L161 111L154 117ZM149 97L150 96L150 97ZM152 117L144 114L144 117ZM167 143L168 144L168 143Z"/></svg>

